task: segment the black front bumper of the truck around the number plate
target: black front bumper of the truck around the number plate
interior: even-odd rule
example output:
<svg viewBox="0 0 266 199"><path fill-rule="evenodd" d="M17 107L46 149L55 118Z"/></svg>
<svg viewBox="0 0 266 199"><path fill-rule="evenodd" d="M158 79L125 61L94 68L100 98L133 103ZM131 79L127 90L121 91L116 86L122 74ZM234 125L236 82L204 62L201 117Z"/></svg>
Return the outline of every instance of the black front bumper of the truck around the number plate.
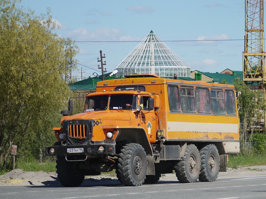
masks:
<svg viewBox="0 0 266 199"><path fill-rule="evenodd" d="M46 156L114 154L115 153L115 140L108 140L108 141L109 143L106 143L105 141L99 141L99 142L94 142L94 144L90 144L90 145L46 146L45 154ZM110 141L111 142L113 141L113 143L110 143ZM105 149L102 153L98 152L99 146L103 146ZM51 148L54 149L53 154L49 152ZM81 150L78 150L78 149L81 149ZM75 151L79 151L79 152L75 152Z"/></svg>

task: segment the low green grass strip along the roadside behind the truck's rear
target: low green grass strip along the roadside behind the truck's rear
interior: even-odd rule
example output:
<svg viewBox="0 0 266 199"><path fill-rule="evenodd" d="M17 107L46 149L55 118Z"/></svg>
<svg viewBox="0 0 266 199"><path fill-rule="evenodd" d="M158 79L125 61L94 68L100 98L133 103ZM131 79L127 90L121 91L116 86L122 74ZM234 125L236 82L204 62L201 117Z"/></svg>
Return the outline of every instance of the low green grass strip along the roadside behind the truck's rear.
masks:
<svg viewBox="0 0 266 199"><path fill-rule="evenodd" d="M266 165L266 154L259 155L228 155L228 167L238 168L239 166L256 166L256 165Z"/></svg>

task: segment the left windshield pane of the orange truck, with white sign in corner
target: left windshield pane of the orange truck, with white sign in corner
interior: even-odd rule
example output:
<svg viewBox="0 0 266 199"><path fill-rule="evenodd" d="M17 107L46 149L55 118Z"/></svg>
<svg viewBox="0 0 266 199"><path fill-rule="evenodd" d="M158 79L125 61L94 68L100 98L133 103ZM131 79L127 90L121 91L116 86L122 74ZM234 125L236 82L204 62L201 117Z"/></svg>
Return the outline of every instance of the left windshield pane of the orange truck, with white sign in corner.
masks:
<svg viewBox="0 0 266 199"><path fill-rule="evenodd" d="M86 99L85 111L102 111L107 109L108 95L92 96Z"/></svg>

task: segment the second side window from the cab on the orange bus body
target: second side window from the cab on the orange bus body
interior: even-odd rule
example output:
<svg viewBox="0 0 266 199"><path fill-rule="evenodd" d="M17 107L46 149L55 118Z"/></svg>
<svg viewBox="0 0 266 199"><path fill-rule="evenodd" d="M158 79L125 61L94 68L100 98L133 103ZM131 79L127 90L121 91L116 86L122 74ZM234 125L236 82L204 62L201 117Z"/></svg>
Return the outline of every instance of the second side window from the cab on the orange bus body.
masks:
<svg viewBox="0 0 266 199"><path fill-rule="evenodd" d="M183 112L195 113L195 96L193 88L180 87L180 98Z"/></svg>

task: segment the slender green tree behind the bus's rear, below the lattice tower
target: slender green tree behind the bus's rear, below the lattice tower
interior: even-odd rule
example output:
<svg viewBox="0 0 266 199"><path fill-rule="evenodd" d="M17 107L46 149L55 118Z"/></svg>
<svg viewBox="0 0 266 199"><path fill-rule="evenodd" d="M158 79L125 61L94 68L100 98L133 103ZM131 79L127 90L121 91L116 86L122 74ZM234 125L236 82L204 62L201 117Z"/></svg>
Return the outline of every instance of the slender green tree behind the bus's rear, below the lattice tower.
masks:
<svg viewBox="0 0 266 199"><path fill-rule="evenodd" d="M242 80L234 80L238 92L237 104L240 121L240 147L242 154L251 154L254 121L260 121L264 116L265 99L260 91L251 90ZM249 132L247 132L249 131Z"/></svg>

